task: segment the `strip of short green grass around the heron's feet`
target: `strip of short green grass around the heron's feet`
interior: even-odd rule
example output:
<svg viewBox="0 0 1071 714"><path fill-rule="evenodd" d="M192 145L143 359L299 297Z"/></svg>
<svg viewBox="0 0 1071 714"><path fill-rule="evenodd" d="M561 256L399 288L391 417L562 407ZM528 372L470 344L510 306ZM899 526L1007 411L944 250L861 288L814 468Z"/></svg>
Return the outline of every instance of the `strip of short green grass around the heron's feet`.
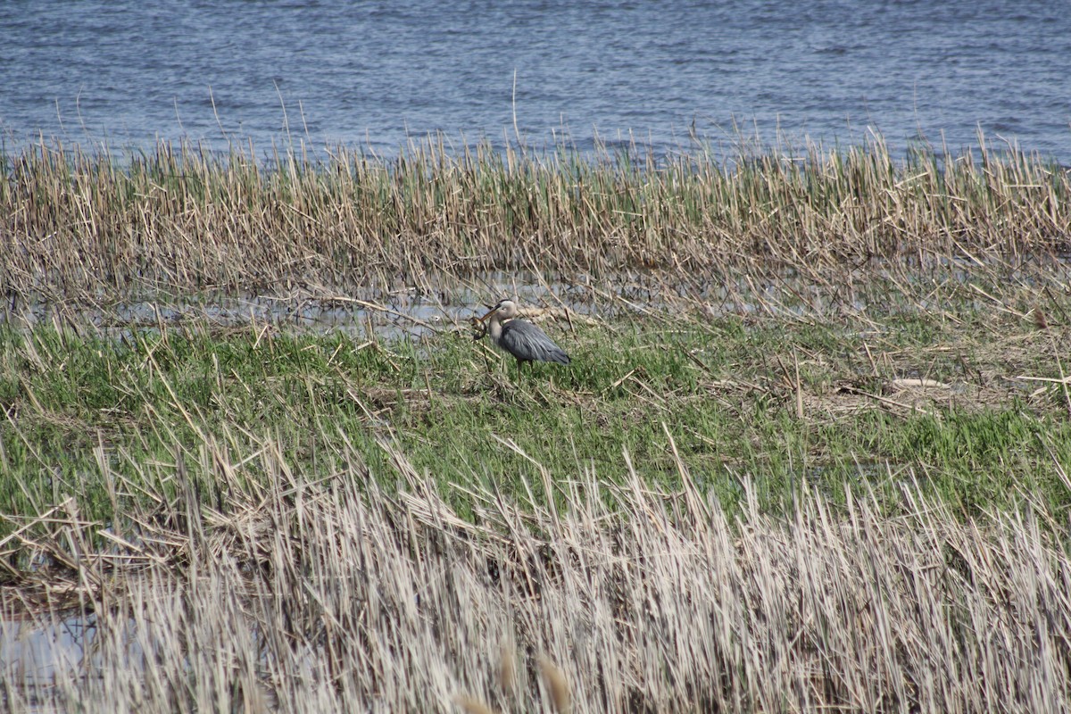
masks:
<svg viewBox="0 0 1071 714"><path fill-rule="evenodd" d="M100 459L129 480L123 498L145 500L139 484L174 496L175 465L197 462L185 456L206 443L238 462L266 439L310 477L343 470L352 444L388 485L379 442L396 442L469 515L472 486L545 498L540 469L559 483L587 469L622 480L623 451L673 487L674 446L730 511L745 482L771 511L790 511L804 485L835 499L859 482L894 508L912 480L964 517L1023 498L1071 503L1056 471L1071 464L1066 397L1010 379L1058 377L1054 338L1006 314L900 315L876 330L737 318L547 329L573 364L534 365L518 382L511 359L462 333L358 344L196 323L122 339L2 325L0 513L72 495L107 521L117 505ZM950 389L889 393L912 377ZM253 480L258 469L236 467ZM216 487L191 475L202 493Z"/></svg>

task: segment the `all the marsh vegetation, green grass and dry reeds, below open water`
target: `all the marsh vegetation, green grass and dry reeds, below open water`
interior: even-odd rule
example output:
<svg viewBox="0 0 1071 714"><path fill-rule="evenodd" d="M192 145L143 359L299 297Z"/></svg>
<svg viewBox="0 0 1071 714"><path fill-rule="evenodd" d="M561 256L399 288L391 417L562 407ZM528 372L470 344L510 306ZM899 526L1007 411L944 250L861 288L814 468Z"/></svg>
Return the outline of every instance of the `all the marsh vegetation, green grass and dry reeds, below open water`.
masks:
<svg viewBox="0 0 1071 714"><path fill-rule="evenodd" d="M1069 187L984 143L7 156L0 648L92 636L0 698L1064 709ZM472 338L507 289L572 364ZM168 312L210 293L281 310Z"/></svg>

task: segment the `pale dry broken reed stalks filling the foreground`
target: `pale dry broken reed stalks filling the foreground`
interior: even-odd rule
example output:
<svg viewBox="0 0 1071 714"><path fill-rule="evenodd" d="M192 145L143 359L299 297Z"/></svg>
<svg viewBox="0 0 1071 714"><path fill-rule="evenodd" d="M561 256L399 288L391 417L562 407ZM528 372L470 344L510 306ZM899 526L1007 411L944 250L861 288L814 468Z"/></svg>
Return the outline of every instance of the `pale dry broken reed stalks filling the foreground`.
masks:
<svg viewBox="0 0 1071 714"><path fill-rule="evenodd" d="M616 486L546 482L563 506L472 491L473 521L380 447L391 492L352 451L311 481L270 440L241 456L205 441L144 465L155 508L105 523L42 503L15 540L47 565L0 589L0 647L15 617L48 632L74 607L91 627L36 671L0 658L5 711L1071 705L1071 560L1052 535L1066 513L1027 500L964 521L907 478L895 517L865 488L833 505L805 486L774 517L749 486L729 519L682 462L661 490L624 453ZM193 472L221 484L217 503ZM101 534L110 546L89 548Z"/></svg>

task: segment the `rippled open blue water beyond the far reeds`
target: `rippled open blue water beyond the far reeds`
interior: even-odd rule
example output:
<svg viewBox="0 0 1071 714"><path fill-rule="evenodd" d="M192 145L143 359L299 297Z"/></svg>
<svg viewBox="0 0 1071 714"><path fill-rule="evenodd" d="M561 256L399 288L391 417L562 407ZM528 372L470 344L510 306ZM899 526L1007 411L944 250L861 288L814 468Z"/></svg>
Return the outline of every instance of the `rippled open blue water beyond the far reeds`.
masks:
<svg viewBox="0 0 1071 714"><path fill-rule="evenodd" d="M981 127L1071 164L1066 2L22 0L0 3L0 36L9 150L44 133L390 156L432 132L501 145L515 116L544 148L876 132L957 151Z"/></svg>

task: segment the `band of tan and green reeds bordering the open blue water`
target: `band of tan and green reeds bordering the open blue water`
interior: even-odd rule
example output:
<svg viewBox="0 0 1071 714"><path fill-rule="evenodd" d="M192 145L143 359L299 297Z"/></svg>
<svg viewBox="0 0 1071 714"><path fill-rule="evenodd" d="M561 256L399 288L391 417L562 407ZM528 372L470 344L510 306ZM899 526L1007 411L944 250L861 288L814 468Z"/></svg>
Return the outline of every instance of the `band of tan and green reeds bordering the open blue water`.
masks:
<svg viewBox="0 0 1071 714"><path fill-rule="evenodd" d="M326 155L326 157L323 157ZM533 155L413 143L380 159L161 143L87 153L42 141L2 157L0 286L9 298L435 290L488 270L709 284L908 258L1022 262L1067 250L1071 176L984 137L895 158L879 140L798 155Z"/></svg>

